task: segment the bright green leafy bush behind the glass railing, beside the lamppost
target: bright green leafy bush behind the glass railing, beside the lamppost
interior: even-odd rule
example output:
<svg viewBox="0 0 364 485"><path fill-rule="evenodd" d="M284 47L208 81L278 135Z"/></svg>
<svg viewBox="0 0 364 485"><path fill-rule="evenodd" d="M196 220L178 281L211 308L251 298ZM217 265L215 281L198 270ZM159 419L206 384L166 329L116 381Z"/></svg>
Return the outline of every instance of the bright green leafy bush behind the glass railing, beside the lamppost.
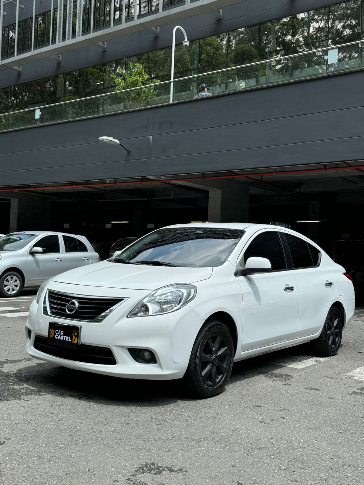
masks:
<svg viewBox="0 0 364 485"><path fill-rule="evenodd" d="M157 79L150 81L144 67L138 63L130 63L125 71L117 69L116 75L111 74L111 77L115 81L114 91L123 91L124 89L146 86L148 84L157 84L159 82ZM157 93L158 91L150 86L144 89L129 91L127 93L120 93L120 100L129 108L137 108L148 105L149 101L151 101Z"/></svg>

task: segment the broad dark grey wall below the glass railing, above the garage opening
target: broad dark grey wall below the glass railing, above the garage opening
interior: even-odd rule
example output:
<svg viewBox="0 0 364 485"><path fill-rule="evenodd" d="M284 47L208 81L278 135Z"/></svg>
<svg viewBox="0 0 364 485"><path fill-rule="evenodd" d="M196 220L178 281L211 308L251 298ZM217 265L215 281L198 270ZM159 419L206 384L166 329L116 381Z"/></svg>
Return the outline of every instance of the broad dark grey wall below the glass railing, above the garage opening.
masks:
<svg viewBox="0 0 364 485"><path fill-rule="evenodd" d="M363 84L361 71L2 133L0 185L363 159Z"/></svg>

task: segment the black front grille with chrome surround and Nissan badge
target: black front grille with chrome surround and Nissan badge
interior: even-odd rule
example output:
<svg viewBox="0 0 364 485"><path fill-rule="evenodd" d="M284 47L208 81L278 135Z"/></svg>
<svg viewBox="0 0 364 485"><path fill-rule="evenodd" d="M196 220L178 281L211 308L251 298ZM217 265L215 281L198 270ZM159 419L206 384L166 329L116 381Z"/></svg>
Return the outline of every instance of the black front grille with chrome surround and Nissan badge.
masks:
<svg viewBox="0 0 364 485"><path fill-rule="evenodd" d="M81 322L102 322L116 306L122 303L126 298L108 298L100 296L75 295L71 293L61 293L58 291L47 291L44 313L75 320ZM66 305L71 302L77 302L77 309L73 313L66 310ZM74 307L75 305L73 305ZM71 311L73 308L71 309Z"/></svg>

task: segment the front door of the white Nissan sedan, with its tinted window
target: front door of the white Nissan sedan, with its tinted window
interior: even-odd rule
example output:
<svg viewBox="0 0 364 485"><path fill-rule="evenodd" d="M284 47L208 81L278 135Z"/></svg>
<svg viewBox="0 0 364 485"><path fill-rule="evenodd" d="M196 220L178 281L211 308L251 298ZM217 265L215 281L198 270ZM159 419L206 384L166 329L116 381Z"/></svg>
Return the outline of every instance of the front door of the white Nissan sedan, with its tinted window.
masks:
<svg viewBox="0 0 364 485"><path fill-rule="evenodd" d="M298 332L298 288L287 270L281 239L276 231L253 236L244 261L253 256L269 259L270 273L239 276L243 293L241 352L295 339Z"/></svg>

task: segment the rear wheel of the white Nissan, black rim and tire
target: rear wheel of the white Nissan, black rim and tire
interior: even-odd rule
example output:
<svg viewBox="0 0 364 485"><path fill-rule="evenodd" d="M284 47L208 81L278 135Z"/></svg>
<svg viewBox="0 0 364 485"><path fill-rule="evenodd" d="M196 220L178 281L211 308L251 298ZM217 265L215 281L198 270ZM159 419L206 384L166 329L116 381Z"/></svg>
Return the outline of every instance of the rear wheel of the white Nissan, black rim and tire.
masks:
<svg viewBox="0 0 364 485"><path fill-rule="evenodd" d="M343 336L343 317L337 307L331 307L318 339L311 342L318 356L335 356Z"/></svg>

